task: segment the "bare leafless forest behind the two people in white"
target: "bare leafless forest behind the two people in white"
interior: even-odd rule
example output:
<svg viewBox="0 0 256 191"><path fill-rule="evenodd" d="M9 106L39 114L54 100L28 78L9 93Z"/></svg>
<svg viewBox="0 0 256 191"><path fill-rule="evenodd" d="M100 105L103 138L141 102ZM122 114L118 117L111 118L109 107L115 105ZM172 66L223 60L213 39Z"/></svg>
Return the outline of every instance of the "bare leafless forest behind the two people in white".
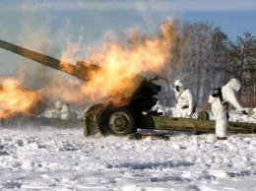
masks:
<svg viewBox="0 0 256 191"><path fill-rule="evenodd" d="M176 33L169 35L172 56L161 74L171 84L180 76L196 96L198 106L204 108L214 88L237 78L242 84L238 94L241 104L256 107L256 37L251 32L230 40L210 23L181 26L179 22L164 22L162 26L164 32Z"/></svg>

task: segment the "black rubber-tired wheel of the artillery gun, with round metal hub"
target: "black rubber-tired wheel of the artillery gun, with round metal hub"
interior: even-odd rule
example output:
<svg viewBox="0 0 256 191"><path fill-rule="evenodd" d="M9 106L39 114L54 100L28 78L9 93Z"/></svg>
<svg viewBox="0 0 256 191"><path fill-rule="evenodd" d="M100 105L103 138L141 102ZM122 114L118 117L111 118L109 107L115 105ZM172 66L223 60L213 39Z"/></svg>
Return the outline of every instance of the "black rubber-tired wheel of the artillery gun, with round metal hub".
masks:
<svg viewBox="0 0 256 191"><path fill-rule="evenodd" d="M98 127L103 136L126 136L136 132L135 121L128 108L106 108L99 115Z"/></svg>

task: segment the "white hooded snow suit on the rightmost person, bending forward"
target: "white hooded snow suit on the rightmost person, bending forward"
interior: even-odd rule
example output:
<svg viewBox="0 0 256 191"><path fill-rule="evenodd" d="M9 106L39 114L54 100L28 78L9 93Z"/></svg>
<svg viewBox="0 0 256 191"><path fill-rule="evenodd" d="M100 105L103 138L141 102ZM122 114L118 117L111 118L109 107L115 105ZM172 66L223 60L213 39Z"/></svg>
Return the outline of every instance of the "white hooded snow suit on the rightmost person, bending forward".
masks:
<svg viewBox="0 0 256 191"><path fill-rule="evenodd" d="M224 102L230 103L238 110L245 110L238 100L236 99L236 94L239 91L241 84L236 79L231 79L223 88L223 99ZM216 135L219 138L225 138L227 134L227 111L230 108L230 104L227 110L221 102L220 97L209 96L208 102L212 103L212 111L216 119Z"/></svg>

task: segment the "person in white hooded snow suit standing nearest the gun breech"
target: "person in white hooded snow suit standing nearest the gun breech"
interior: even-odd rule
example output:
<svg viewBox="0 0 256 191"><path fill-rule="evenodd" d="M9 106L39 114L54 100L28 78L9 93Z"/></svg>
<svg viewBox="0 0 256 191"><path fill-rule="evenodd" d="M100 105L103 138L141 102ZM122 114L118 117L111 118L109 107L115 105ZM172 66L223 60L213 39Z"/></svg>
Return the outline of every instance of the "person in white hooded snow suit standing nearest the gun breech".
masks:
<svg viewBox="0 0 256 191"><path fill-rule="evenodd" d="M178 90L176 87L178 87ZM174 116L190 118L194 110L195 98L192 92L185 87L185 84L180 80L180 78L176 78L174 82L174 93L177 102Z"/></svg>

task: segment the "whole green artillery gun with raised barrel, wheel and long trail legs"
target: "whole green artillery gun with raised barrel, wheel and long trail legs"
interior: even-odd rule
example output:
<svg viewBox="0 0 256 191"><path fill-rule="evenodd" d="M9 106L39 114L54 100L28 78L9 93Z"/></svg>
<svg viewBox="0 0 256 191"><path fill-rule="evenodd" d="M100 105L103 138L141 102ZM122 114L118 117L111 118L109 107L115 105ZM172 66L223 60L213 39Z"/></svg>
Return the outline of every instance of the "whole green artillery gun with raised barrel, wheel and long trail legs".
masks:
<svg viewBox="0 0 256 191"><path fill-rule="evenodd" d="M27 48L0 40L0 47L27 57L44 66L72 75L85 82L90 81L99 66L78 61L75 65L40 54ZM209 120L207 112L198 113L198 119L160 116L158 112L148 112L156 105L160 86L156 78L147 79L142 75L133 77L125 91L108 97L102 103L92 106L83 118L84 135L100 132L103 136L128 135L140 129L215 132L215 121ZM125 103L125 104L121 104ZM120 106L121 105L121 106ZM256 133L256 124L228 122L230 133Z"/></svg>

